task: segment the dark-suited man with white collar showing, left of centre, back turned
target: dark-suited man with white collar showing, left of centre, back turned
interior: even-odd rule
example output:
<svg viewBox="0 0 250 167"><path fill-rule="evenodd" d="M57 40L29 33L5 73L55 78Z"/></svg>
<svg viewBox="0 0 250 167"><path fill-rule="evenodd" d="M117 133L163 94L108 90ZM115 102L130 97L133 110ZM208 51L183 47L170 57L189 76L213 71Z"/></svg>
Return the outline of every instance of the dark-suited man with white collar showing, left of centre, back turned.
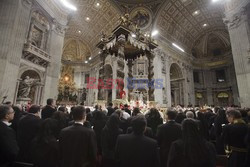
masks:
<svg viewBox="0 0 250 167"><path fill-rule="evenodd" d="M86 112L83 106L74 108L72 126L62 129L59 138L61 167L94 167L97 145L95 133L83 126Z"/></svg>

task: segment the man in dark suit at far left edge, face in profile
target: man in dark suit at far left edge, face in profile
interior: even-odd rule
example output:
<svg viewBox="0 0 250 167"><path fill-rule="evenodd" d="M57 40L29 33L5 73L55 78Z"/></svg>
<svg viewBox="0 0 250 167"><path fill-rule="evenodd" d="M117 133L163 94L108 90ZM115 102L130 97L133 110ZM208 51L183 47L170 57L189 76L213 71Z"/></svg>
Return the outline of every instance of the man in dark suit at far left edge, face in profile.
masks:
<svg viewBox="0 0 250 167"><path fill-rule="evenodd" d="M15 131L10 128L14 110L9 105L0 105L0 166L9 166L16 158L19 147Z"/></svg>

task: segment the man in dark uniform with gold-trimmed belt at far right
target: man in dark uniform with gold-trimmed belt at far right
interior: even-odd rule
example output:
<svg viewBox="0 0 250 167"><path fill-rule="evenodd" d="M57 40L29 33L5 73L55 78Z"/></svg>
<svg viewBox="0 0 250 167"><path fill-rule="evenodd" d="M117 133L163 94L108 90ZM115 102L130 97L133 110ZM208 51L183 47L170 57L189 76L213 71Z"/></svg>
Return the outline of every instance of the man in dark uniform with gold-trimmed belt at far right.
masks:
<svg viewBox="0 0 250 167"><path fill-rule="evenodd" d="M222 138L230 152L229 167L244 166L247 156L245 138L247 136L247 124L242 120L238 110L227 112L227 119L230 124L224 126Z"/></svg>

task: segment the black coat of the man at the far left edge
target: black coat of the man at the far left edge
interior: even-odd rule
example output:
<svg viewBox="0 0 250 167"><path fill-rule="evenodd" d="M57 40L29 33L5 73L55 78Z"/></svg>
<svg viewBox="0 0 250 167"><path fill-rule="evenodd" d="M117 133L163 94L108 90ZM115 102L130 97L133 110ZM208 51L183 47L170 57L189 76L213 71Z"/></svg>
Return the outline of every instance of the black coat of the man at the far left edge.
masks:
<svg viewBox="0 0 250 167"><path fill-rule="evenodd" d="M13 162L18 151L15 131L0 121L0 166Z"/></svg>

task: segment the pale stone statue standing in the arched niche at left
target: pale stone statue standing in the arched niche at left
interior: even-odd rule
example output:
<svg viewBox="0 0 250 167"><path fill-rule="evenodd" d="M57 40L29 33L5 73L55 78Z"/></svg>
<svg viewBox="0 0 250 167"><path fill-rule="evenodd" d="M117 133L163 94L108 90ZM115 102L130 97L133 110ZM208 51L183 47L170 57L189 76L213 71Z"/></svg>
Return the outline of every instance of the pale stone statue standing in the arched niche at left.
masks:
<svg viewBox="0 0 250 167"><path fill-rule="evenodd" d="M20 82L18 97L28 98L30 94L31 87L39 82L39 79L33 79L29 76L26 76L23 81Z"/></svg>

